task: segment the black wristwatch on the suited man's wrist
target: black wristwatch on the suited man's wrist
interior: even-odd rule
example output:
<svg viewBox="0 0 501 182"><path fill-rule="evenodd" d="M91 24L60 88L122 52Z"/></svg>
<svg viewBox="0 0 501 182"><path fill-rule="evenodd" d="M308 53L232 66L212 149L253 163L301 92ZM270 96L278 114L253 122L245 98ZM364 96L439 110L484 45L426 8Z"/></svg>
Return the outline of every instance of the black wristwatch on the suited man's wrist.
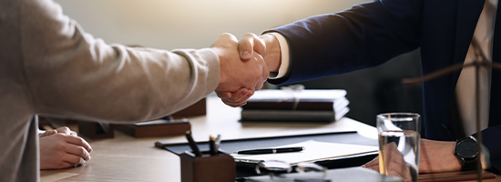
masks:
<svg viewBox="0 0 501 182"><path fill-rule="evenodd" d="M468 136L458 139L455 142L455 157L461 163L461 170L475 169L478 160L478 143L475 137Z"/></svg>

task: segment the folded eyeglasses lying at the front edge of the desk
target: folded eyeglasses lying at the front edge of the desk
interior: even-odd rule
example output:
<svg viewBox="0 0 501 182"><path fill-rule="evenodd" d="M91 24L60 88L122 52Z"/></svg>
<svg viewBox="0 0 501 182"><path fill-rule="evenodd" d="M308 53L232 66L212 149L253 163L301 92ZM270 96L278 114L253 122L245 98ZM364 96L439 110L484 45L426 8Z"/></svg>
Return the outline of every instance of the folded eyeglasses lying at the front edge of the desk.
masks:
<svg viewBox="0 0 501 182"><path fill-rule="evenodd" d="M256 165L255 169L259 175L269 174L272 181L331 181L325 178L327 177L327 168L315 163L290 165L281 160L267 160Z"/></svg>

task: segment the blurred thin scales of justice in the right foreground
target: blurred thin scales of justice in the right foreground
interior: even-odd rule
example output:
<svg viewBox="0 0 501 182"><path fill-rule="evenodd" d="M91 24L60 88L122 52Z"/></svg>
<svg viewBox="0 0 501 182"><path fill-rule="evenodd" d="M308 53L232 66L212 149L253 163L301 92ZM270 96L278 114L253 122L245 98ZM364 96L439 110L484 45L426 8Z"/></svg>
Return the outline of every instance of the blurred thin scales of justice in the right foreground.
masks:
<svg viewBox="0 0 501 182"><path fill-rule="evenodd" d="M445 76L447 74L451 74L456 71L460 71L465 67L471 67L475 66L475 113L476 113L476 140L478 142L478 157L481 157L482 155L482 132L481 132L481 120L480 120L480 86L479 86L479 81L480 81L480 76L479 76L479 69L480 66L485 66L487 68L491 68L492 70L501 70L501 64L499 63L492 63L489 61L486 61L484 57L479 59L479 56L475 56L475 60L472 63L459 63L453 66L448 66L445 68L442 68L440 70L437 70L435 72L432 72L430 74L421 76L421 77L414 77L414 78L404 78L402 79L402 84L403 85L414 85L414 84L420 84L424 83L429 80L433 80L435 78L438 78L440 76ZM492 82L491 82L492 85ZM491 92L491 95L494 93ZM477 180L482 181L482 162L481 160L477 160L476 162L476 169L477 169Z"/></svg>

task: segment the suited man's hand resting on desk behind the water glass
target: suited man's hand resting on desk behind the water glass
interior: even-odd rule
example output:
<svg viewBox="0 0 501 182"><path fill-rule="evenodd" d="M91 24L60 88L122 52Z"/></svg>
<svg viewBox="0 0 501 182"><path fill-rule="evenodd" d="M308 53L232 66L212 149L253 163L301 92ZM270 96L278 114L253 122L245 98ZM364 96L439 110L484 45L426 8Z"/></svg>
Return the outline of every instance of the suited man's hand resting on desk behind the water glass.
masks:
<svg viewBox="0 0 501 182"><path fill-rule="evenodd" d="M461 170L461 164L454 155L455 142L421 139L419 173L438 173ZM379 157L363 165L379 171Z"/></svg>

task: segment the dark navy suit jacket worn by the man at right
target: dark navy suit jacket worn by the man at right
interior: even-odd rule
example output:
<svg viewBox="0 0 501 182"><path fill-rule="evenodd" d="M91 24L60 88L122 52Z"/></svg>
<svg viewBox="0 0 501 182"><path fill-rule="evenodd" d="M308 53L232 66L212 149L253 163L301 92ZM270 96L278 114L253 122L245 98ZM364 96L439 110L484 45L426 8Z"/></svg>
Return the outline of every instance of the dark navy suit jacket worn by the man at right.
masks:
<svg viewBox="0 0 501 182"><path fill-rule="evenodd" d="M463 63L483 6L484 1L376 0L277 27L270 31L286 37L291 62L286 76L269 82L287 84L378 66L418 47L424 75ZM459 74L424 83L425 138L458 138L451 106ZM483 131L483 143L497 170L501 169L500 124L490 120Z"/></svg>

